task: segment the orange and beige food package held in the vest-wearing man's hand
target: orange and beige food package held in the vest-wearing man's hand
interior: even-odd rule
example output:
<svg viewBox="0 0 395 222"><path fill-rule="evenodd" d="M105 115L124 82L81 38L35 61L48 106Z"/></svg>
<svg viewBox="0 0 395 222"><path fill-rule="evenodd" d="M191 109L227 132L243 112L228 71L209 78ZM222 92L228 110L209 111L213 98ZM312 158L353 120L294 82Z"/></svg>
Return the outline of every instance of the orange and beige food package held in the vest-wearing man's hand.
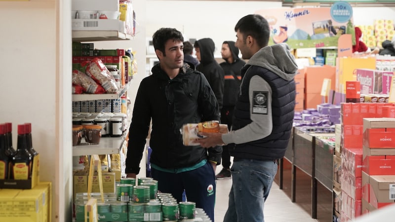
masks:
<svg viewBox="0 0 395 222"><path fill-rule="evenodd" d="M219 124L218 121L206 121L199 123L187 123L180 129L182 134L182 142L184 146L198 146L194 141L196 139L204 138L200 132L206 133L228 133L227 124Z"/></svg>

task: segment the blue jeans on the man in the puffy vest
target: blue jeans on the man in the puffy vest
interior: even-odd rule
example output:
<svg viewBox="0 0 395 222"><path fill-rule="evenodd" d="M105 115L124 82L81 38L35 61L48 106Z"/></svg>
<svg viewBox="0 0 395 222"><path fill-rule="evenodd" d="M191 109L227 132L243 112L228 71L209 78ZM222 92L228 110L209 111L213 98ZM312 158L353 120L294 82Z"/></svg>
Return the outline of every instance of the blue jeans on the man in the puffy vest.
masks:
<svg viewBox="0 0 395 222"><path fill-rule="evenodd" d="M277 173L274 161L233 162L232 188L224 222L264 222L263 208Z"/></svg>

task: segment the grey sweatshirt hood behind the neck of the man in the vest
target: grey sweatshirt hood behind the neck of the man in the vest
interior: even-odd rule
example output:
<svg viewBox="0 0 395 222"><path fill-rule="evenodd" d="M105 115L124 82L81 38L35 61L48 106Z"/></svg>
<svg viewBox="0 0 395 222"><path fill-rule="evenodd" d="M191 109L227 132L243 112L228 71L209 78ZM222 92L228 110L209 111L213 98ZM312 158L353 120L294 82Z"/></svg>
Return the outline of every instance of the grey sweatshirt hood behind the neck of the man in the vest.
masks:
<svg viewBox="0 0 395 222"><path fill-rule="evenodd" d="M295 57L286 43L277 43L261 48L247 62L272 71L285 80L291 80L298 71Z"/></svg>

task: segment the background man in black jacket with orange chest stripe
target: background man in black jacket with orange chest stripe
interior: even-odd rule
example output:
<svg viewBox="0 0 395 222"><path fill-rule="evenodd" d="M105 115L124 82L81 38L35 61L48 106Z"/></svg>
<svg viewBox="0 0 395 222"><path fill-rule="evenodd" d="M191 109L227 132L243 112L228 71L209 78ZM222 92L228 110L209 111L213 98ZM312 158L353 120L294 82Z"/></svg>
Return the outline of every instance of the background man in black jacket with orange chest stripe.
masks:
<svg viewBox="0 0 395 222"><path fill-rule="evenodd" d="M224 70L225 84L224 97L221 109L221 123L228 124L231 130L233 110L235 109L238 89L241 83L241 68L245 62L238 58L238 48L234 41L224 41L222 43L221 55L225 62L219 65ZM222 146L222 170L215 177L218 180L231 177L231 155L228 146Z"/></svg>

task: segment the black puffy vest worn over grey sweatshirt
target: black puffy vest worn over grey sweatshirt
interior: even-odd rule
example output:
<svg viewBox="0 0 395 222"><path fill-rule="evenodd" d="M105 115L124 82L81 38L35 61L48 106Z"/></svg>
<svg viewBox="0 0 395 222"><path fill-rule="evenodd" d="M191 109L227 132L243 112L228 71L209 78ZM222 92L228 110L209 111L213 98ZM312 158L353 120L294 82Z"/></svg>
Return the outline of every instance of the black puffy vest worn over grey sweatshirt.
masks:
<svg viewBox="0 0 395 222"><path fill-rule="evenodd" d="M250 68L250 69L248 69ZM248 72L246 72L248 69ZM251 123L248 89L250 79L259 75L272 88L272 133L260 140L231 146L229 153L236 158L276 160L282 158L291 135L295 109L295 81L287 81L273 72L258 66L244 66L241 94L235 107L233 129L240 129Z"/></svg>

